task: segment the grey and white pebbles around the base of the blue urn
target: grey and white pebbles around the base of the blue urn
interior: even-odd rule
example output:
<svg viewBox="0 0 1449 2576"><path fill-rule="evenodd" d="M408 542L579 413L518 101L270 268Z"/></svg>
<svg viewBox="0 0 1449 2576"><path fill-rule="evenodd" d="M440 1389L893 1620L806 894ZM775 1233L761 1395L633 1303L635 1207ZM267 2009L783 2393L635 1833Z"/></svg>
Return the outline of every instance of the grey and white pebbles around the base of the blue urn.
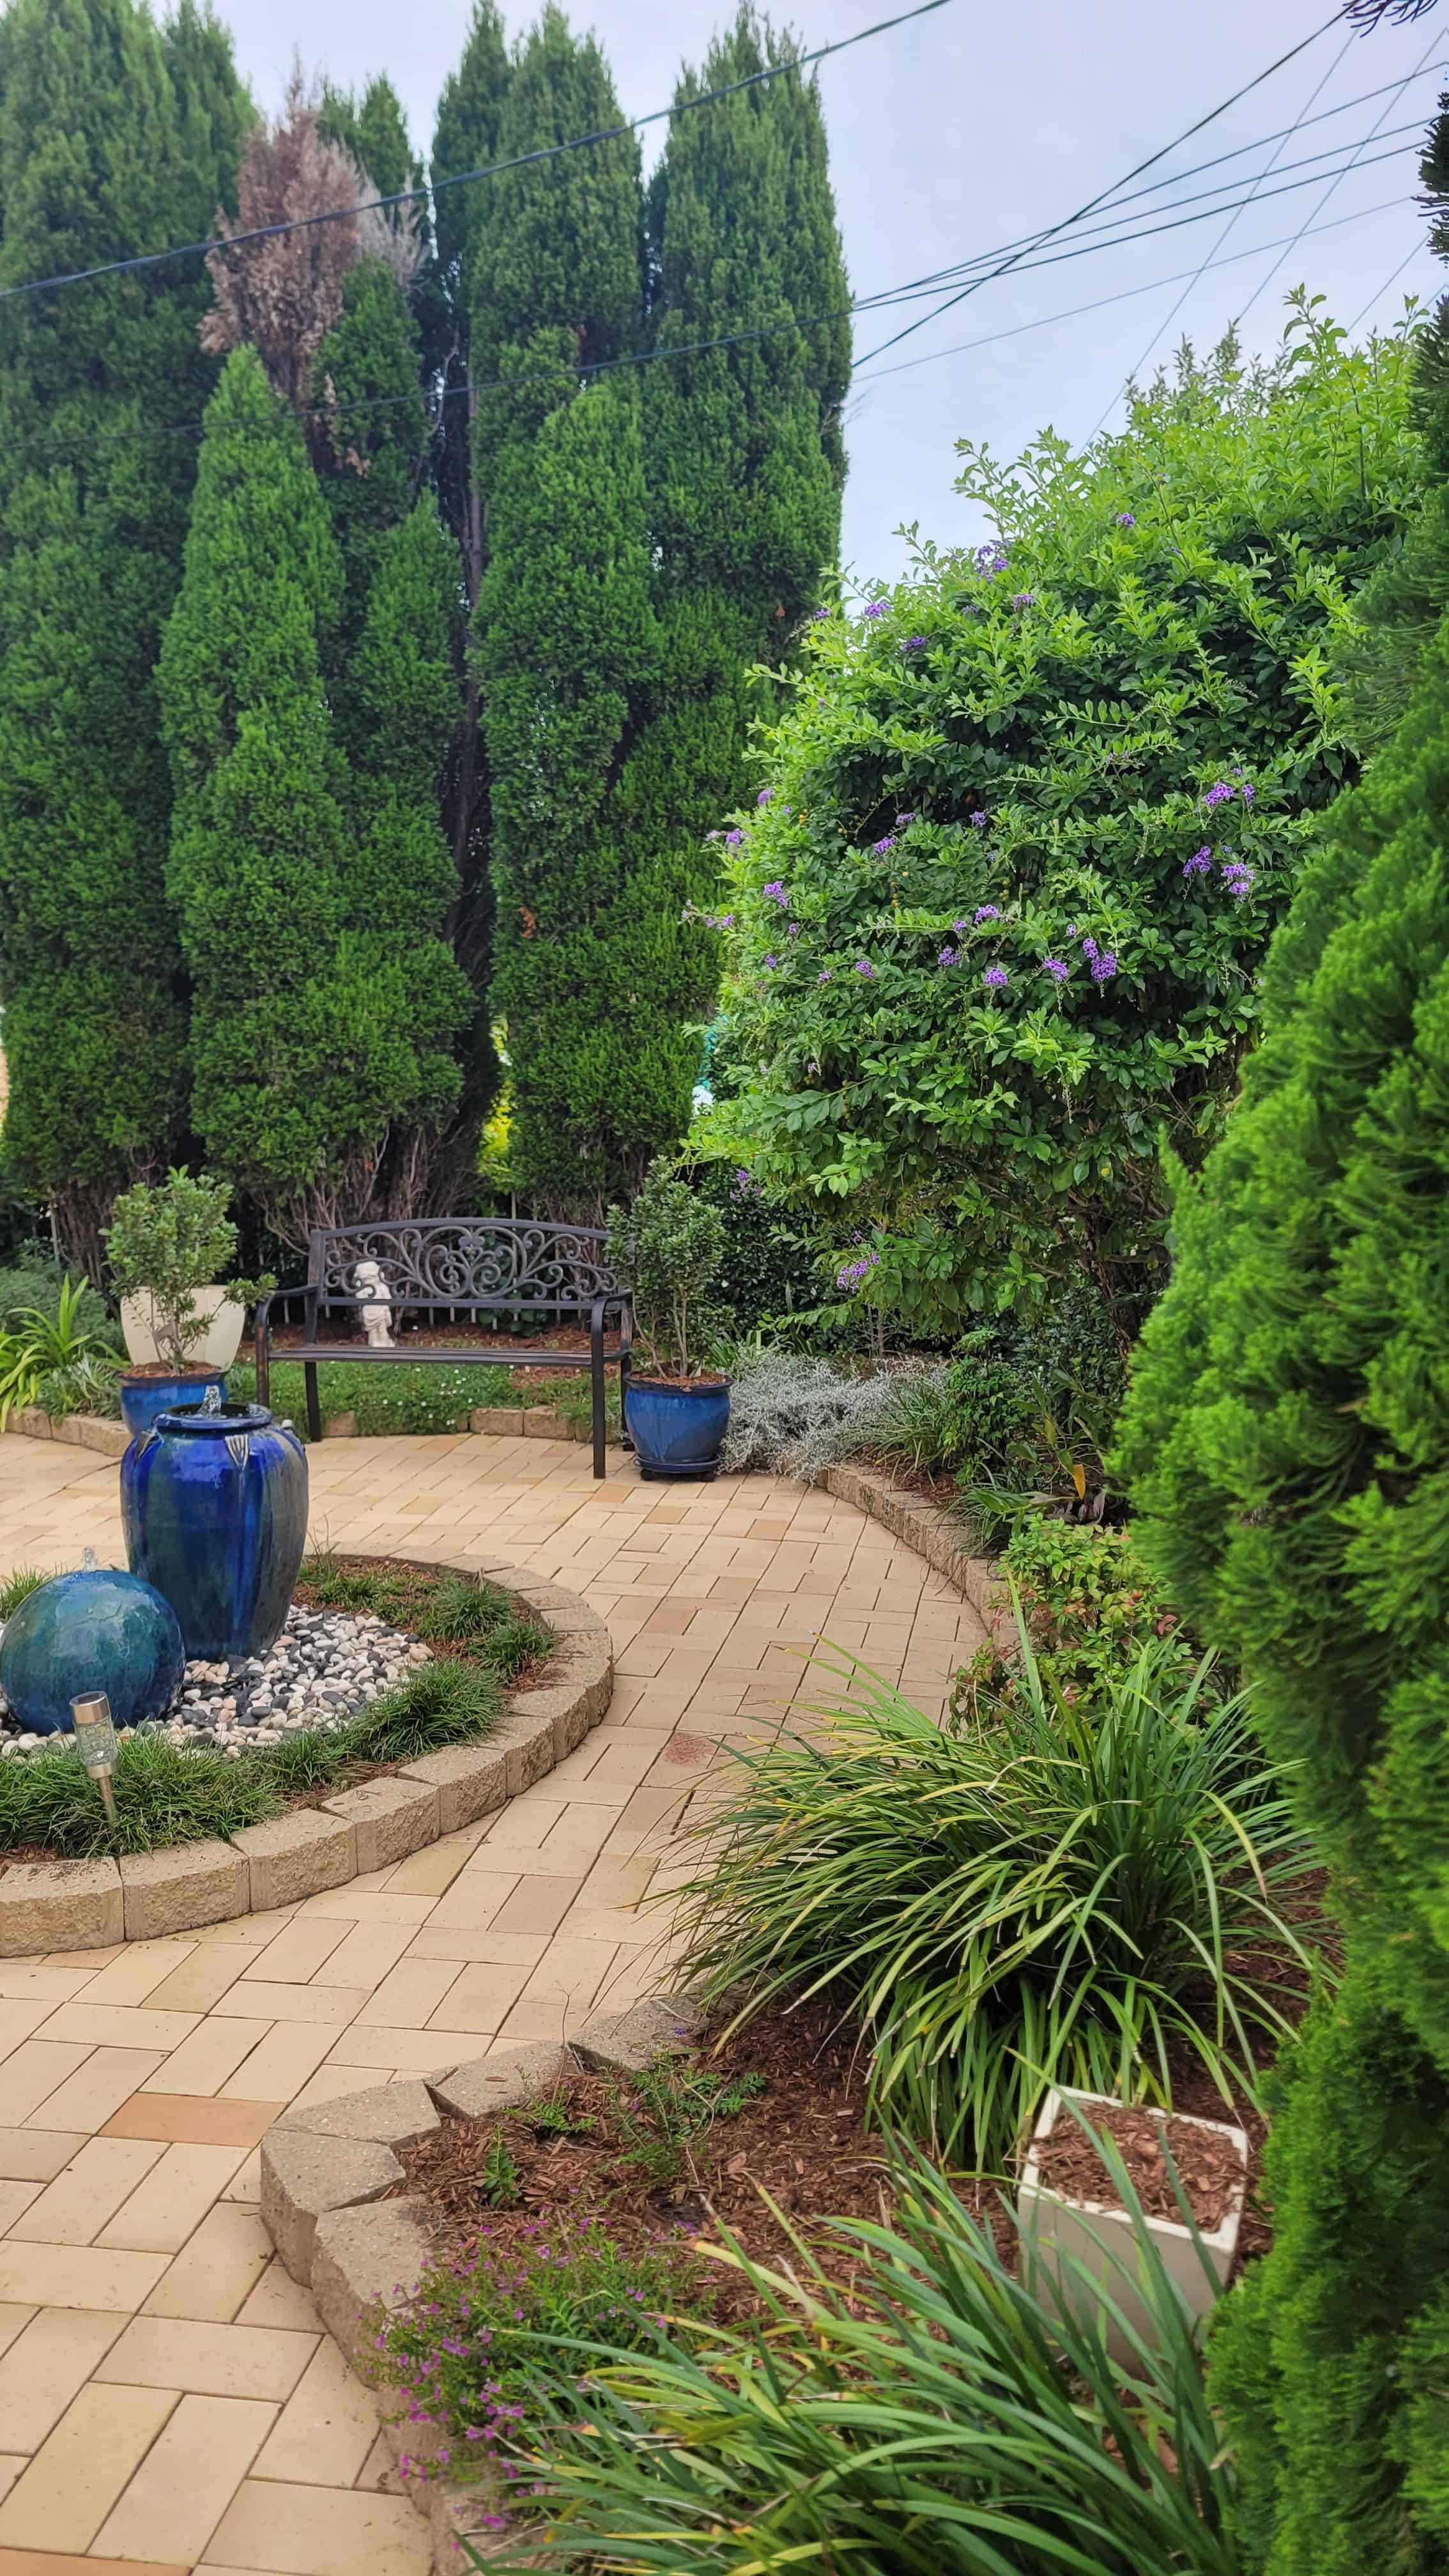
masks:
<svg viewBox="0 0 1449 2576"><path fill-rule="evenodd" d="M340 1726L428 1662L431 1649L420 1638L389 1628L371 1610L302 1610L294 1602L271 1654L188 1664L170 1713L119 1734L165 1734L173 1744L209 1744L240 1759L304 1726ZM70 1728L59 1736L26 1734L0 1700L0 1757L57 1752L72 1741Z"/></svg>

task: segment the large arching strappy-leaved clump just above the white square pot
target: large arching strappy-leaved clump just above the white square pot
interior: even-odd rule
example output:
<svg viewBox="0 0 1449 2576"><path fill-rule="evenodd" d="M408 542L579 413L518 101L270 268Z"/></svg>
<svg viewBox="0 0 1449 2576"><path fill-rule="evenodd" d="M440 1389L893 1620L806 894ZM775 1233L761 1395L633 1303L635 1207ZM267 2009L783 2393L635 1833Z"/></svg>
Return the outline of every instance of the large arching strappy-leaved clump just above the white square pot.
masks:
<svg viewBox="0 0 1449 2576"><path fill-rule="evenodd" d="M1160 1646L1067 1708L1021 1636L990 1726L859 1677L825 1747L735 1754L683 1891L688 1976L740 2017L825 1994L882 2115L1000 2166L1047 2084L1225 2092L1281 2038L1307 1868L1240 1700L1199 1710ZM704 1829L701 1829L704 1832Z"/></svg>

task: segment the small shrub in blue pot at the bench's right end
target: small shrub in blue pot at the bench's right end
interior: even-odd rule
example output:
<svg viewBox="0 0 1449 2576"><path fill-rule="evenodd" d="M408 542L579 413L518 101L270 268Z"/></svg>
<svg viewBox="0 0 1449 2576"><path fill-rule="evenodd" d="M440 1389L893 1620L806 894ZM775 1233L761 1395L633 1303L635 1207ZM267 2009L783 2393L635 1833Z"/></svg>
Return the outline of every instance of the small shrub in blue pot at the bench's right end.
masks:
<svg viewBox="0 0 1449 2576"><path fill-rule="evenodd" d="M724 1260L724 1221L657 1162L632 1208L608 1211L608 1267L634 1296L645 1368L624 1386L624 1430L642 1476L717 1476L730 1378L712 1368L730 1324L709 1301Z"/></svg>

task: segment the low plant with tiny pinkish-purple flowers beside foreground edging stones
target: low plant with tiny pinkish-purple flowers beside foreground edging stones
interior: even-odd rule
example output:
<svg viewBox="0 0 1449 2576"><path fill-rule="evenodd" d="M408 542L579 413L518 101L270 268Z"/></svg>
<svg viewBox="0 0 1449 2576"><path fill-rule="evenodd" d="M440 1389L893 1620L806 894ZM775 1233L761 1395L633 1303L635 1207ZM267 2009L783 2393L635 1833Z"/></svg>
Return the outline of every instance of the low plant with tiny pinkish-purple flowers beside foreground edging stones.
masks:
<svg viewBox="0 0 1449 2576"><path fill-rule="evenodd" d="M369 2375L407 2398L410 2421L443 2434L423 2473L485 2476L500 2434L547 2406L596 2360L663 2344L699 2306L701 2264L678 2236L621 2244L606 2221L549 2213L539 2233L477 2246L423 2275L376 2336ZM405 2463L407 2465L407 2463Z"/></svg>

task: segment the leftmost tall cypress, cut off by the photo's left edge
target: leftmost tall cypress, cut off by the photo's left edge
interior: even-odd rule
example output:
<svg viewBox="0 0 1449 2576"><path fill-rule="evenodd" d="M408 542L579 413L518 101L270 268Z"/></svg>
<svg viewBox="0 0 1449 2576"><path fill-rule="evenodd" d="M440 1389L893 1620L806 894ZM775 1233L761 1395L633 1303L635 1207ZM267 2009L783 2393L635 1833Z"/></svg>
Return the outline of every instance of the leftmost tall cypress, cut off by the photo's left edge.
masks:
<svg viewBox="0 0 1449 2576"><path fill-rule="evenodd" d="M186 5L5 18L0 283L206 232L250 106ZM199 263L0 307L0 989L8 1159L101 1265L111 1200L186 1131L186 994L162 891L155 654L199 412Z"/></svg>

